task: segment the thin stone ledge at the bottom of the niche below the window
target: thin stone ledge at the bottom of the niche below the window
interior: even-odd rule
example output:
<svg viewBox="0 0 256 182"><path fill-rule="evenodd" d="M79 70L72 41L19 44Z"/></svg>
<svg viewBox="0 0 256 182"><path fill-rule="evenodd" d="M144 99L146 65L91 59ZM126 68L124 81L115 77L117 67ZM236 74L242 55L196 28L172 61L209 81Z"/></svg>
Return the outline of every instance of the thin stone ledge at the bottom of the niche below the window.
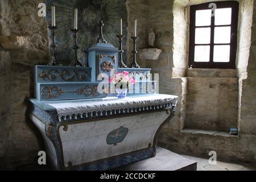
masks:
<svg viewBox="0 0 256 182"><path fill-rule="evenodd" d="M203 135L212 135L214 137L233 137L238 138L238 135L230 135L229 133L223 131L212 131L212 130L197 130L197 129L183 129L181 133L187 134L203 134Z"/></svg>

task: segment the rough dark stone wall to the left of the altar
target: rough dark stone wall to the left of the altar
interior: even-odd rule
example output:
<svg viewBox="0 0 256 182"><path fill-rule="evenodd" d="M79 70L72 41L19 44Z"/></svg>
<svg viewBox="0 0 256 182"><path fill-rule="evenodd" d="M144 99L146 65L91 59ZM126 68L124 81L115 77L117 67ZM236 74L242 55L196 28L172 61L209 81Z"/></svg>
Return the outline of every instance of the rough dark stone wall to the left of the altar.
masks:
<svg viewBox="0 0 256 182"><path fill-rule="evenodd" d="M32 67L49 59L47 24L37 16L40 1L0 3L0 168L35 163L43 143L26 118L33 96Z"/></svg>

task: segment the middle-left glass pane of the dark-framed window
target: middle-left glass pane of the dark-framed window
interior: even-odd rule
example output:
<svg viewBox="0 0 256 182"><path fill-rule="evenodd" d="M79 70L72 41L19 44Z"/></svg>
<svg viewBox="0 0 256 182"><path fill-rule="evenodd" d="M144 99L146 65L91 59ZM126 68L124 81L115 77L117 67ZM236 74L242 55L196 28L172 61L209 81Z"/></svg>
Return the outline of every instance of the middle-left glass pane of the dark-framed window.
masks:
<svg viewBox="0 0 256 182"><path fill-rule="evenodd" d="M196 28L195 43L196 44L209 44L210 43L210 28Z"/></svg>

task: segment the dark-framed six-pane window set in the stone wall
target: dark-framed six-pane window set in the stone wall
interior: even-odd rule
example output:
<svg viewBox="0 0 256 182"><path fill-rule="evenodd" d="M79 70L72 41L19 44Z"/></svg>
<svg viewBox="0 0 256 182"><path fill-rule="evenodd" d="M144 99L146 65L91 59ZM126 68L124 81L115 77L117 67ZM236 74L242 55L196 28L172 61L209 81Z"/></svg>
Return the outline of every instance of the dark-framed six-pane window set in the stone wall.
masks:
<svg viewBox="0 0 256 182"><path fill-rule="evenodd" d="M213 2L190 8L189 68L236 68L237 1Z"/></svg>

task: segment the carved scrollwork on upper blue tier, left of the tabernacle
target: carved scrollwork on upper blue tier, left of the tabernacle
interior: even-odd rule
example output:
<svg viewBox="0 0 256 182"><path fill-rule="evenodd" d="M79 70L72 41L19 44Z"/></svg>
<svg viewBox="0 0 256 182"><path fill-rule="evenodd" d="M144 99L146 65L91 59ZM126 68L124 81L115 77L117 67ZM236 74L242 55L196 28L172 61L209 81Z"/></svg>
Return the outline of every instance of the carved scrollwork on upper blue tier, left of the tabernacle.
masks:
<svg viewBox="0 0 256 182"><path fill-rule="evenodd" d="M72 75L70 75L67 69L63 69L60 72L57 71L56 69L49 69L48 71L41 71L38 74L38 77L42 78L43 80L46 80L48 78L51 81L54 81L56 77L59 77L61 78L61 80L64 80L64 81L72 81L76 77L77 80L82 81L82 80L85 80L86 78L85 74L88 75L88 73L86 73L86 71L83 71L83 70L77 70L77 71L74 70Z"/></svg>

